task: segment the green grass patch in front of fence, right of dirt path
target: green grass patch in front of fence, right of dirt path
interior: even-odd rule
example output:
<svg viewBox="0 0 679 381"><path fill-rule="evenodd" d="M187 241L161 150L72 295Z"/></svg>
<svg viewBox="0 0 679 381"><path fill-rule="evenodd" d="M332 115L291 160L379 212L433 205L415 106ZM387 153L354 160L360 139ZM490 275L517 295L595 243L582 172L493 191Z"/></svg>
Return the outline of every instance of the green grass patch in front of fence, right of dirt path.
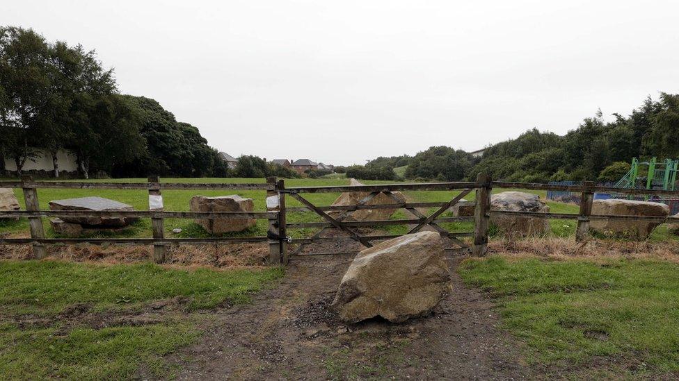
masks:
<svg viewBox="0 0 679 381"><path fill-rule="evenodd" d="M458 271L497 298L504 328L528 344L532 364L577 369L622 358L648 365L632 375L679 372L678 264L494 256Z"/></svg>

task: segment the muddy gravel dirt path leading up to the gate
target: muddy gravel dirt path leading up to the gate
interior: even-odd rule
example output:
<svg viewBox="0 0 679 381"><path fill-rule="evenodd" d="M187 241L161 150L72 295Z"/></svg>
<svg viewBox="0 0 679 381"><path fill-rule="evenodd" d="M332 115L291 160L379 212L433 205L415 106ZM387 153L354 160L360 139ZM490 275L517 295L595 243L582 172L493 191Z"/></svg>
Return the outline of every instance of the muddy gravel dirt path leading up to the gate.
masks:
<svg viewBox="0 0 679 381"><path fill-rule="evenodd" d="M291 262L251 305L218 310L198 344L172 355L181 380L526 378L516 342L492 303L454 273L454 292L433 315L403 324L344 325L326 308L350 258ZM452 259L452 269L459 260Z"/></svg>

